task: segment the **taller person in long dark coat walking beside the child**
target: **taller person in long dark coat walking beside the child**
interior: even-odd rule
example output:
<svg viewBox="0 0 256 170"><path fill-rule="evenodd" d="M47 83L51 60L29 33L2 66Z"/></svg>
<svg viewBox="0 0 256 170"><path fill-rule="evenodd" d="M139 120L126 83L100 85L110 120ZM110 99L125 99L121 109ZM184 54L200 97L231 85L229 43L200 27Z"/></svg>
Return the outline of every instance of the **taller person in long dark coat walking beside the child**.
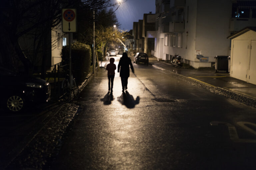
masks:
<svg viewBox="0 0 256 170"><path fill-rule="evenodd" d="M131 66L132 72L134 73L132 61L128 57L127 53L124 52L117 66L117 72L120 71L120 77L121 77L122 89L123 89L122 92L124 92L124 89L127 90L128 77L130 76L129 65Z"/></svg>

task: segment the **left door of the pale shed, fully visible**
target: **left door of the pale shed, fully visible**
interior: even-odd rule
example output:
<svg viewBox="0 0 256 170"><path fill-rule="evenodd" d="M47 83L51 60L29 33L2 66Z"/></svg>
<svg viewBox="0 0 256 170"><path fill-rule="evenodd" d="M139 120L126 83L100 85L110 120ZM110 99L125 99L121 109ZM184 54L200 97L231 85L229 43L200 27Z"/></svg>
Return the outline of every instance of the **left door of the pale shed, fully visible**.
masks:
<svg viewBox="0 0 256 170"><path fill-rule="evenodd" d="M248 41L234 40L232 77L246 81Z"/></svg>

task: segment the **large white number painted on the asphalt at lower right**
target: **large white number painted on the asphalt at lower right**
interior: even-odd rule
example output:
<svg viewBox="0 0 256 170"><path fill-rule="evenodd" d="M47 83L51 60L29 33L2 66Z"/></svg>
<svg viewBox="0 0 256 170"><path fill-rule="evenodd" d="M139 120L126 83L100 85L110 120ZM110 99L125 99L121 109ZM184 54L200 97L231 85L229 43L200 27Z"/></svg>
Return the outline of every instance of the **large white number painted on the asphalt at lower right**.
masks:
<svg viewBox="0 0 256 170"><path fill-rule="evenodd" d="M241 126L242 128L244 128L245 130L248 130L249 132L256 135L256 132L254 130L252 130L251 128L244 125L244 124L249 124L249 125L256 127L256 124L253 124L250 122L237 122L237 124L239 126ZM231 125L230 123L213 121L213 122L210 122L210 125L211 126L226 125L228 127L230 139L233 140L233 142L256 143L255 139L239 139L236 128L233 125Z"/></svg>

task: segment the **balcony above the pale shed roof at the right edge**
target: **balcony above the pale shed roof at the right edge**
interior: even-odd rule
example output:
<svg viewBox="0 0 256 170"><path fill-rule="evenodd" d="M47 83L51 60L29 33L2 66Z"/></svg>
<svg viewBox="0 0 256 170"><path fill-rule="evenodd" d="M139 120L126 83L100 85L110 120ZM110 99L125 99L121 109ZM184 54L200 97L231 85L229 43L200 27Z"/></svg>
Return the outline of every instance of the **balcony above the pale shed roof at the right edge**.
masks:
<svg viewBox="0 0 256 170"><path fill-rule="evenodd" d="M230 32L239 31L245 27L256 27L256 18L231 18Z"/></svg>

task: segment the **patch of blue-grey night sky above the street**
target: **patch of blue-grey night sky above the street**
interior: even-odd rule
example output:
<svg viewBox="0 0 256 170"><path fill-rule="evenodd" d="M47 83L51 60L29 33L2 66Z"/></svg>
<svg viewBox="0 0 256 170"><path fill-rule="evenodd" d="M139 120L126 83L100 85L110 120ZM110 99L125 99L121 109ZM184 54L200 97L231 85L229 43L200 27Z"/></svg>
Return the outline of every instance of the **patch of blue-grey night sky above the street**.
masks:
<svg viewBox="0 0 256 170"><path fill-rule="evenodd" d="M119 29L132 30L133 22L143 20L143 14L148 14L150 11L153 14L156 12L155 0L127 0L115 12L118 22L121 24Z"/></svg>

